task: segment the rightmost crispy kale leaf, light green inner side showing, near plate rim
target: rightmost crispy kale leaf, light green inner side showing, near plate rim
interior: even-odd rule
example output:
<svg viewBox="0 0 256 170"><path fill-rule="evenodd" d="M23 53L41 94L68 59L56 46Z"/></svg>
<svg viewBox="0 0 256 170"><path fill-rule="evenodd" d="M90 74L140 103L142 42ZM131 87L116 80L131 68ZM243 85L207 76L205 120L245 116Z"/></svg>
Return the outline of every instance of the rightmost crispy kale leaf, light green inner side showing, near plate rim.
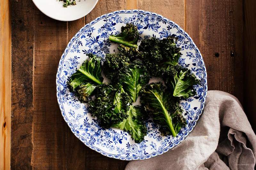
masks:
<svg viewBox="0 0 256 170"><path fill-rule="evenodd" d="M180 66L169 67L163 77L173 96L186 99L196 95L193 86L198 84L199 80L189 69Z"/></svg>

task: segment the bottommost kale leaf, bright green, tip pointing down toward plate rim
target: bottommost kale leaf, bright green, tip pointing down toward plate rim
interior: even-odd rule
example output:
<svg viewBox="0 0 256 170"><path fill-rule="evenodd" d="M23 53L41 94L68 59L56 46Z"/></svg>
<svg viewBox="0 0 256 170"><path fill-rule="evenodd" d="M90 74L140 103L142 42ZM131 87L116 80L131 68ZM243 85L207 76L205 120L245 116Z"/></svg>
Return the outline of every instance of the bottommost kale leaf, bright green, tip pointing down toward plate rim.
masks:
<svg viewBox="0 0 256 170"><path fill-rule="evenodd" d="M128 117L118 124L114 124L113 127L128 131L136 143L140 143L144 140L144 136L147 134L147 127L142 120L142 113L140 106L132 106L127 112Z"/></svg>

